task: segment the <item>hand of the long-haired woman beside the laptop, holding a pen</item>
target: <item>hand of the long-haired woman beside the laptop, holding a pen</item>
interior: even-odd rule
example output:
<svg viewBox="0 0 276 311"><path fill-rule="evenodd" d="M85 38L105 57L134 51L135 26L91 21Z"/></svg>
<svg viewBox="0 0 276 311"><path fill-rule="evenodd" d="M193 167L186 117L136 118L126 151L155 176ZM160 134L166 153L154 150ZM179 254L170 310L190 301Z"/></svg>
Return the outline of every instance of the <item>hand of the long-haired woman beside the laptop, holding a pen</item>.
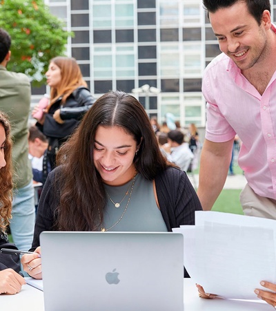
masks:
<svg viewBox="0 0 276 311"><path fill-rule="evenodd" d="M24 254L21 258L23 270L34 279L42 279L41 247L37 247L33 254Z"/></svg>

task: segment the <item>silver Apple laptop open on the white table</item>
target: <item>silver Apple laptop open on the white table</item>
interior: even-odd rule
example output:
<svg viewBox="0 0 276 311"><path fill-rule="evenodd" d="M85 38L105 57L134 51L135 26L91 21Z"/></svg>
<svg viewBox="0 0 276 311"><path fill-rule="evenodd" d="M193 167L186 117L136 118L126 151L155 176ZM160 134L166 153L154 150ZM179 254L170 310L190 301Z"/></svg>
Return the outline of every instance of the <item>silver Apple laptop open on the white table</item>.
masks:
<svg viewBox="0 0 276 311"><path fill-rule="evenodd" d="M184 242L172 232L42 232L45 311L182 311Z"/></svg>

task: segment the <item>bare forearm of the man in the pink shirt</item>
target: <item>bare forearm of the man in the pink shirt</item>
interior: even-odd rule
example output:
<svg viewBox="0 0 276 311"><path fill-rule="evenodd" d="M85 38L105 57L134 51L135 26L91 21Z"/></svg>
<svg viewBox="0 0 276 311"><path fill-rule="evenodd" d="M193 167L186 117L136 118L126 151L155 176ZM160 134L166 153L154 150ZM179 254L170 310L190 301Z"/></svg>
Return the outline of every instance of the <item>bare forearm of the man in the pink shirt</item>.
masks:
<svg viewBox="0 0 276 311"><path fill-rule="evenodd" d="M234 138L228 142L204 141L197 190L204 210L210 211L224 187L232 156L233 140Z"/></svg>

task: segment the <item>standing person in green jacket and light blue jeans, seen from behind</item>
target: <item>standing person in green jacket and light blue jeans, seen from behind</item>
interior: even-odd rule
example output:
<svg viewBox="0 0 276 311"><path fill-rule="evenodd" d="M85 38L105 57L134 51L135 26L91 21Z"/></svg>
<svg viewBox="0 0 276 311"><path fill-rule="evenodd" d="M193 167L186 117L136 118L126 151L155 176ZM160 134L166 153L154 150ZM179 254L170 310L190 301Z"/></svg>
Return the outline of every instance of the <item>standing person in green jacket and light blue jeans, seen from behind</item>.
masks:
<svg viewBox="0 0 276 311"><path fill-rule="evenodd" d="M23 73L6 69L10 60L11 39L0 29L0 110L12 124L13 201L10 230L14 243L28 250L34 234L34 188L32 167L28 158L28 118L30 113L30 81Z"/></svg>

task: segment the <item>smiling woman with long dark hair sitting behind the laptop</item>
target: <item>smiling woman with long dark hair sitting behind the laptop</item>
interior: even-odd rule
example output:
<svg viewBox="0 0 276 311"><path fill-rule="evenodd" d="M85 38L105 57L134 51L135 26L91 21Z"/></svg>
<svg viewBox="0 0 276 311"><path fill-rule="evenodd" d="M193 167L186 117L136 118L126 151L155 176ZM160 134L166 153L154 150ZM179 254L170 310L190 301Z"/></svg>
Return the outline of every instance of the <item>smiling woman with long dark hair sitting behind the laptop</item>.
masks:
<svg viewBox="0 0 276 311"><path fill-rule="evenodd" d="M168 232L193 225L201 210L186 173L162 156L146 111L126 93L100 97L57 162L39 200L32 243L38 253L45 230ZM37 254L21 262L41 279Z"/></svg>

